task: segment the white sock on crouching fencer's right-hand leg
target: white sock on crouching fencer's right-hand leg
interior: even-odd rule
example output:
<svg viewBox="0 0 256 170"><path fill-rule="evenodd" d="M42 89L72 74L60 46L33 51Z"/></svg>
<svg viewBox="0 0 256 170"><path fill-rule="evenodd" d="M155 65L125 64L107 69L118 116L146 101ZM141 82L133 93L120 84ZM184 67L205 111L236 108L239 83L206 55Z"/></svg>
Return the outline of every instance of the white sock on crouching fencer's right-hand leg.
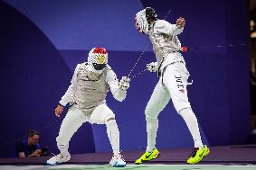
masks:
<svg viewBox="0 0 256 170"><path fill-rule="evenodd" d="M119 127L116 120L110 120L106 122L107 133L109 142L111 144L114 155L118 155L119 150Z"/></svg>

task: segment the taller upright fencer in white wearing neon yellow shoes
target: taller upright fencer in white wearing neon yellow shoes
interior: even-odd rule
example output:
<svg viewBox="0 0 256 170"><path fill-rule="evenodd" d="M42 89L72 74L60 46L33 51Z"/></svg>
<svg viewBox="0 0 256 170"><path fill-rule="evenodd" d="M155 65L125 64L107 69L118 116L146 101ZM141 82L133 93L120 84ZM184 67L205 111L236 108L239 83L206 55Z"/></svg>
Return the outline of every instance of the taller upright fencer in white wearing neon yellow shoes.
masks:
<svg viewBox="0 0 256 170"><path fill-rule="evenodd" d="M194 139L194 151L188 164L196 164L209 153L203 145L198 122L192 111L187 97L187 79L189 72L185 67L185 59L180 53L181 43L177 35L184 31L185 19L180 17L176 24L165 20L158 20L153 8L146 9L136 14L136 28L141 33L147 34L156 55L156 62L147 64L147 70L157 72L159 81L147 103L145 110L147 121L147 152L137 159L136 164L158 157L156 149L156 132L158 129L158 115L172 100L176 112L182 116ZM153 154L152 154L153 152ZM201 156L200 153L205 154ZM147 157L147 155L150 157ZM153 157L156 155L156 157Z"/></svg>

